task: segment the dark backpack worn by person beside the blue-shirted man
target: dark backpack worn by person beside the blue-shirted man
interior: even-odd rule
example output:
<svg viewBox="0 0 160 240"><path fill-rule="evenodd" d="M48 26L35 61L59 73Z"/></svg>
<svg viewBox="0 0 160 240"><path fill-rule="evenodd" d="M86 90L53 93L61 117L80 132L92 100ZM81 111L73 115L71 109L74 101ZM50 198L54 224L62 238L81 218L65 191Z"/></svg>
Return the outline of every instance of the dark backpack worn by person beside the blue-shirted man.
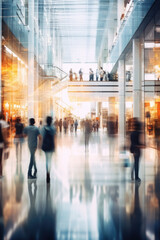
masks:
<svg viewBox="0 0 160 240"><path fill-rule="evenodd" d="M54 151L54 136L51 133L50 129L44 128L44 137L42 143L42 150L44 152Z"/></svg>

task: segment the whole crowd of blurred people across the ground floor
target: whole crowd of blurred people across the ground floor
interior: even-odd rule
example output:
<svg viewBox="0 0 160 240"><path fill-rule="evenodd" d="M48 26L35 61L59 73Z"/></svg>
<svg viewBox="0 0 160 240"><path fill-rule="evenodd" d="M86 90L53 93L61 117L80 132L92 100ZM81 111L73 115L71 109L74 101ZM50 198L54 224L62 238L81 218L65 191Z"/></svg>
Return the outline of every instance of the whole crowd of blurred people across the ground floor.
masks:
<svg viewBox="0 0 160 240"><path fill-rule="evenodd" d="M155 122L155 140L157 148L159 150L159 139L160 139L160 124L158 121ZM37 166L35 161L35 153L37 148L40 148L45 153L46 159L46 182L50 182L50 171L51 171L51 160L53 153L56 149L56 135L59 133L64 133L64 136L70 132L71 134L77 134L77 129L80 128L85 136L85 149L88 148L89 139L91 133L98 132L100 127L99 119L83 119L78 122L77 119L73 118L64 118L64 120L56 119L53 122L51 116L46 117L46 123L43 125L40 121L39 126L35 126L34 118L29 119L29 125L24 126L21 122L21 118L17 117L15 122L15 134L14 134L14 144L16 149L16 158L17 161L20 161L22 158L22 145L24 143L25 137L27 137L28 149L30 152L30 161L28 166L28 179L37 178ZM116 115L108 116L107 120L107 133L109 141L113 147L115 144L115 136L118 134L118 118ZM8 147L8 133L7 129L9 124L4 120L3 116L0 114L0 178L3 177L3 164L2 157L5 151L5 148ZM144 131L144 128L143 128ZM132 180L140 181L139 178L139 160L141 155L141 149L144 148L144 140L142 141L142 124L137 118L130 119L126 124L126 134L129 139L128 147L124 146L124 150L129 149L131 155L133 156L133 164L131 171Z"/></svg>

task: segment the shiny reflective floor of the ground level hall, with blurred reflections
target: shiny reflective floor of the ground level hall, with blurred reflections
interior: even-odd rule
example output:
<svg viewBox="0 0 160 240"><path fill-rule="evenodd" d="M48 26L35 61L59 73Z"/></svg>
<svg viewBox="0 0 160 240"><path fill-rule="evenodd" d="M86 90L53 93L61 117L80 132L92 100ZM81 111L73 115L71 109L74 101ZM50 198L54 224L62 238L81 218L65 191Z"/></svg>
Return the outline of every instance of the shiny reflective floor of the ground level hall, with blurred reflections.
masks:
<svg viewBox="0 0 160 240"><path fill-rule="evenodd" d="M14 146L0 180L0 239L160 239L160 162L154 149L141 157L140 184L122 168L118 140L81 132L58 136L51 183L36 152L37 180L27 179L29 152Z"/></svg>

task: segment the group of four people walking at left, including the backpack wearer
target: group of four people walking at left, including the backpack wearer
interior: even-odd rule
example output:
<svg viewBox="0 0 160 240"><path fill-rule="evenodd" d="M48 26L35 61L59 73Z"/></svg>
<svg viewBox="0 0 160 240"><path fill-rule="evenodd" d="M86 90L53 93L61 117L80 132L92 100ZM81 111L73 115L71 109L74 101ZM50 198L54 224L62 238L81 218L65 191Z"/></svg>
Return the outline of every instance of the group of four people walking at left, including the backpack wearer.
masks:
<svg viewBox="0 0 160 240"><path fill-rule="evenodd" d="M4 120L3 115L0 115L0 178L3 178L3 153L8 148L8 123ZM37 147L41 148L45 153L46 158L46 181L50 182L51 160L56 147L56 128L53 124L51 116L46 117L46 124L35 126L35 119L29 119L29 126L24 126L21 123L21 118L17 117L15 123L14 143L16 146L17 161L22 158L22 144L24 138L27 137L28 148L30 152L30 162L28 166L28 179L37 178L37 166L35 153ZM39 146L38 146L39 145Z"/></svg>

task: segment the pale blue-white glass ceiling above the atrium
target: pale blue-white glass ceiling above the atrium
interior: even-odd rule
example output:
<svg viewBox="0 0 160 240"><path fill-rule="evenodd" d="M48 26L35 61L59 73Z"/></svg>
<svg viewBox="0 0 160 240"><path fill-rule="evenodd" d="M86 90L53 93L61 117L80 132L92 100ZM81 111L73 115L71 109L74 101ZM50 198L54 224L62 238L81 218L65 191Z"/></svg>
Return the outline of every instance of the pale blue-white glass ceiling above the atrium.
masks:
<svg viewBox="0 0 160 240"><path fill-rule="evenodd" d="M117 0L39 1L39 8L48 18L50 32L53 31L58 36L63 63L98 61L104 30L117 18L116 2ZM45 26L41 27L43 31Z"/></svg>

